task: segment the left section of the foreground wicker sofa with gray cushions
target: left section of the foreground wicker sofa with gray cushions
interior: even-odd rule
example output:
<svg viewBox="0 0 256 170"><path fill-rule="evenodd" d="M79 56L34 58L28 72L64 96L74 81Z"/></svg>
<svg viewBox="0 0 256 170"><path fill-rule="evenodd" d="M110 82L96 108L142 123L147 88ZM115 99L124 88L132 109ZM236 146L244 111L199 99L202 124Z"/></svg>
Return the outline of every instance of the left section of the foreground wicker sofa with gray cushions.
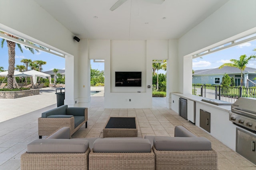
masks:
<svg viewBox="0 0 256 170"><path fill-rule="evenodd" d="M89 141L70 138L70 128L62 127L32 141L21 155L21 170L88 170Z"/></svg>

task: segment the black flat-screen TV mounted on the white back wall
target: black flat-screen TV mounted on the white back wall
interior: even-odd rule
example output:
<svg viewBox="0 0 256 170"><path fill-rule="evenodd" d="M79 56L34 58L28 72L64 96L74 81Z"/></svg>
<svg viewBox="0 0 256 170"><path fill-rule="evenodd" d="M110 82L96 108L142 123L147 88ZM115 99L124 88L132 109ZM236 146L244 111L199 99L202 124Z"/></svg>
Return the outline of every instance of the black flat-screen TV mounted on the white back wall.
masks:
<svg viewBox="0 0 256 170"><path fill-rule="evenodd" d="M141 87L141 72L117 72L116 87Z"/></svg>

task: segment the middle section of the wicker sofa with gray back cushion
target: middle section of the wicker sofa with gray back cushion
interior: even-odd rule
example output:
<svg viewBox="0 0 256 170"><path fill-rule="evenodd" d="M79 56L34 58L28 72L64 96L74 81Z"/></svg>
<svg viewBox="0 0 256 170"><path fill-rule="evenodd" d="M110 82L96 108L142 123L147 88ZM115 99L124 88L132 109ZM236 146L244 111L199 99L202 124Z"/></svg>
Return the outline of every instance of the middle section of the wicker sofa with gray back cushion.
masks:
<svg viewBox="0 0 256 170"><path fill-rule="evenodd" d="M90 170L154 170L150 141L142 138L104 138L94 141Z"/></svg>

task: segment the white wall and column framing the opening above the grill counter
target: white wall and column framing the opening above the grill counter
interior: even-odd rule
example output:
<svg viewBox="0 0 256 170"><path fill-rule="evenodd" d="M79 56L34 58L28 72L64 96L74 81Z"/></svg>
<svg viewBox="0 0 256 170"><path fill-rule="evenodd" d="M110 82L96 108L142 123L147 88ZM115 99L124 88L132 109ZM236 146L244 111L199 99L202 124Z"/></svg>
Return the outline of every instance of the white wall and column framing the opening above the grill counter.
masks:
<svg viewBox="0 0 256 170"><path fill-rule="evenodd" d="M255 0L230 0L179 39L178 92L192 93L192 55L256 32L255 7Z"/></svg>

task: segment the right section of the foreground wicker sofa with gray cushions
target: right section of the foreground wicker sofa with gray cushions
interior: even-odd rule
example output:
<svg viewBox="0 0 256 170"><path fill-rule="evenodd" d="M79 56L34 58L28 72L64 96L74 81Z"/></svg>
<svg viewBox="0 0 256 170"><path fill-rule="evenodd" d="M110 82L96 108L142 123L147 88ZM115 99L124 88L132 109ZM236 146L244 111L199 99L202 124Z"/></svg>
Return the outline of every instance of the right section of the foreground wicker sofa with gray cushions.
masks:
<svg viewBox="0 0 256 170"><path fill-rule="evenodd" d="M217 152L204 137L176 126L174 137L145 136L152 143L156 170L217 170Z"/></svg>

